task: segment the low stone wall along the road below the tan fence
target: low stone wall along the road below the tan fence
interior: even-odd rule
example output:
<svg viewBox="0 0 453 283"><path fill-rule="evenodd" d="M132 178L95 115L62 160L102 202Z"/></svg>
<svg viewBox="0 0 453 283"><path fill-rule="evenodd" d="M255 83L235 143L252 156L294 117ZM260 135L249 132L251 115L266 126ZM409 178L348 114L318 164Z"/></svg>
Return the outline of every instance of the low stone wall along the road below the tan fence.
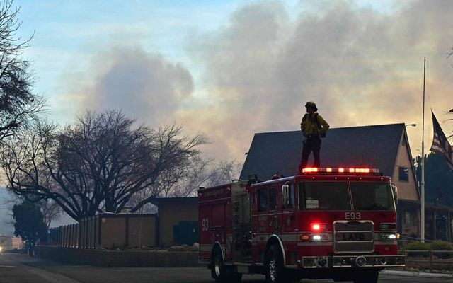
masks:
<svg viewBox="0 0 453 283"><path fill-rule="evenodd" d="M76 265L101 267L198 267L198 252L169 252L157 250L122 251L89 250L38 246L41 258Z"/></svg>

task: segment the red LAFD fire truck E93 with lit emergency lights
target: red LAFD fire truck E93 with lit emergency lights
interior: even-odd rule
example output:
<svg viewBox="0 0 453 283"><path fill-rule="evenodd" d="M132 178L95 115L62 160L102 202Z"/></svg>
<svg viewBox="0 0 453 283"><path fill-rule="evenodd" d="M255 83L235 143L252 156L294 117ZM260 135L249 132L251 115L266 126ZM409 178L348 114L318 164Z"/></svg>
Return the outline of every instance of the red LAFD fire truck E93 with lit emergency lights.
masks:
<svg viewBox="0 0 453 283"><path fill-rule="evenodd" d="M200 262L215 282L263 274L377 282L398 255L396 186L371 168L304 168L301 175L198 190Z"/></svg>

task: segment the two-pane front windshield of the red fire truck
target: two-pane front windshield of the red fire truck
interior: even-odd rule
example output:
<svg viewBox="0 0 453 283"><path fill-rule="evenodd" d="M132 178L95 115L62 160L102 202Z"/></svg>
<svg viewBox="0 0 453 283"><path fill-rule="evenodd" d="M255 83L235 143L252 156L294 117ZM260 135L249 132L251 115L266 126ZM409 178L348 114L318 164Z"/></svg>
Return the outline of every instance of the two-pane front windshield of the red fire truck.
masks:
<svg viewBox="0 0 453 283"><path fill-rule="evenodd" d="M300 182L300 210L351 210L347 182ZM387 183L350 183L354 210L395 210Z"/></svg>

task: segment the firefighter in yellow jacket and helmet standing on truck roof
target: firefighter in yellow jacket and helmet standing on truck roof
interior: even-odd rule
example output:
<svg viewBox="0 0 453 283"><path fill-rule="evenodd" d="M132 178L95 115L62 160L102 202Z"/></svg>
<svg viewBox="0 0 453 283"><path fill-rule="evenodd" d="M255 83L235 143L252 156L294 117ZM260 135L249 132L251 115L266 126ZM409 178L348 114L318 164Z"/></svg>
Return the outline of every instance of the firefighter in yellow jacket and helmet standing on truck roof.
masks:
<svg viewBox="0 0 453 283"><path fill-rule="evenodd" d="M316 103L309 101L305 104L306 114L302 117L300 123L300 129L304 134L304 141L302 147L302 159L300 161L299 169L302 172L302 168L306 167L306 163L309 161L309 155L313 151L314 167L320 166L319 153L321 151L321 137L326 137L326 132L330 127L326 120L321 117L316 111Z"/></svg>

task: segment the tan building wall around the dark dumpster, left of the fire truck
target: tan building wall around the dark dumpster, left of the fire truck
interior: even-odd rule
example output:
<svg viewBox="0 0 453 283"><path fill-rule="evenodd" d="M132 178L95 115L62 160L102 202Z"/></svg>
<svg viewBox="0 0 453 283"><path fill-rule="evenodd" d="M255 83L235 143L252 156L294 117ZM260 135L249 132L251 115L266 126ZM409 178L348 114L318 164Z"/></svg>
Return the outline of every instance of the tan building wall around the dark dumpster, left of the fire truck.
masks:
<svg viewBox="0 0 453 283"><path fill-rule="evenodd" d="M173 225L180 221L198 221L197 199L159 200L159 246L173 245Z"/></svg>

